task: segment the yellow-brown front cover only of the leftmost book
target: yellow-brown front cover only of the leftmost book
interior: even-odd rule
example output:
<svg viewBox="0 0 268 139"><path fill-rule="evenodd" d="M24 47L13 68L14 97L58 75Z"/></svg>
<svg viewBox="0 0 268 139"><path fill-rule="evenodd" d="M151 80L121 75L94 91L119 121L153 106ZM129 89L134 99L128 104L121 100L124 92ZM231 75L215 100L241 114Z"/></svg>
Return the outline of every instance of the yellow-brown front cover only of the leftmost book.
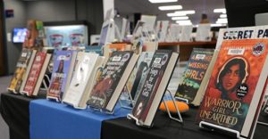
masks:
<svg viewBox="0 0 268 139"><path fill-rule="evenodd" d="M26 49L26 48L22 49L21 57L19 58L19 61L17 62L16 70L14 72L10 86L8 86L9 90L13 92L17 92L17 93L20 92L22 79L29 65L31 54L32 54L32 50Z"/></svg>

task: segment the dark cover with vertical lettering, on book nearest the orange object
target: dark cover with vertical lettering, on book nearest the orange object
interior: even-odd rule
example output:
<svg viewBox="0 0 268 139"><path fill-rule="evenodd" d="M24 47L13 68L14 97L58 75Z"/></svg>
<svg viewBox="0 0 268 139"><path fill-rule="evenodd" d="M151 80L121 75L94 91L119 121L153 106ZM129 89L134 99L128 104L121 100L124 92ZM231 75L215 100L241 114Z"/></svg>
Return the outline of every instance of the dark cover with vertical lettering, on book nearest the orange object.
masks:
<svg viewBox="0 0 268 139"><path fill-rule="evenodd" d="M160 86L163 80L164 72L172 56L172 51L168 50L157 50L153 56L150 64L150 70L148 71L145 84L142 86L141 93L138 96L138 100L132 110L132 115L136 117L140 122L145 122L147 119L147 114L152 107L152 103L155 99L162 99L163 95L155 97L159 88L166 88L166 86ZM173 64L174 67L175 64ZM172 71L169 71L170 76ZM167 78L167 77L164 77ZM165 89L164 89L165 90ZM164 93L164 90L161 94ZM160 101L159 101L160 103ZM155 103L158 106L159 103Z"/></svg>

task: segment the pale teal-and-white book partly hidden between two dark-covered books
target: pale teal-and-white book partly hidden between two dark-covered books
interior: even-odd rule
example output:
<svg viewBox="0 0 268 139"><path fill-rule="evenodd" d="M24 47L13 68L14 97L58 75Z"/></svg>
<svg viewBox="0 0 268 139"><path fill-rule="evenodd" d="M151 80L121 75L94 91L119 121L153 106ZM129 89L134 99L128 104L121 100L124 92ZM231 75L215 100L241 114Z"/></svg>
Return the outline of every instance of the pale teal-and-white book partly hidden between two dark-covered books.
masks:
<svg viewBox="0 0 268 139"><path fill-rule="evenodd" d="M147 78L147 73L149 71L149 66L152 61L154 53L153 52L142 52L139 55L138 61L130 74L124 89L122 91L122 96L129 96L135 101L138 98L140 89ZM129 100L129 98L123 98Z"/></svg>

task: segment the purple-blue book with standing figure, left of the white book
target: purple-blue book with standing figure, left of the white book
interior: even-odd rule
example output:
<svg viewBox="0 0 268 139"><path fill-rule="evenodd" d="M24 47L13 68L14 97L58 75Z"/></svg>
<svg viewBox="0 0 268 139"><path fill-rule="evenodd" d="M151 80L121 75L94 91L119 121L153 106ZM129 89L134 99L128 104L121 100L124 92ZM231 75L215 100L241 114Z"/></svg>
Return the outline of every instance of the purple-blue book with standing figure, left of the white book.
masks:
<svg viewBox="0 0 268 139"><path fill-rule="evenodd" d="M56 51L51 82L46 93L47 99L62 101L63 94L66 93L71 82L76 54L75 51Z"/></svg>

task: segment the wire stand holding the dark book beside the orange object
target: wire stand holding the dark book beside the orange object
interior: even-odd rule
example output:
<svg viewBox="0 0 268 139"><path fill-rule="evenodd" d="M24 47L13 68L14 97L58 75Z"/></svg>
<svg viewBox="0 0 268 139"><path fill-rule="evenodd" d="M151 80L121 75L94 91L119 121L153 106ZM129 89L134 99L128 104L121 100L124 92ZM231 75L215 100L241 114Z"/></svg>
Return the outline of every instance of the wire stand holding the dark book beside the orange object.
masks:
<svg viewBox="0 0 268 139"><path fill-rule="evenodd" d="M177 106L177 104L176 104L176 102L175 102L175 99L174 99L172 93L171 93L169 90L167 90L166 93L170 94L170 96L171 96L171 98L172 98L172 102L173 102L173 104L174 104L174 106L175 106L175 108L176 108L176 113L178 114L178 118L174 118L174 117L172 117L171 111L169 110L169 107L167 106L167 103L166 103L167 100L165 100L164 97L163 97L163 104L164 104L165 109L167 110L167 113L168 113L170 119L172 119L172 120L174 120L174 121L177 121L177 122L179 122L179 123L183 123L183 119L181 118L181 115L180 115L180 110L179 110L179 108L178 108L178 106ZM134 120L136 121L136 125L139 126L139 127L148 127L148 126L144 125L142 122L140 122L140 121L139 121L136 117L134 117L132 114L128 114L128 115L127 115L127 118L128 118L128 119L134 119ZM154 126L154 123L153 123L150 127L153 127L153 126Z"/></svg>

